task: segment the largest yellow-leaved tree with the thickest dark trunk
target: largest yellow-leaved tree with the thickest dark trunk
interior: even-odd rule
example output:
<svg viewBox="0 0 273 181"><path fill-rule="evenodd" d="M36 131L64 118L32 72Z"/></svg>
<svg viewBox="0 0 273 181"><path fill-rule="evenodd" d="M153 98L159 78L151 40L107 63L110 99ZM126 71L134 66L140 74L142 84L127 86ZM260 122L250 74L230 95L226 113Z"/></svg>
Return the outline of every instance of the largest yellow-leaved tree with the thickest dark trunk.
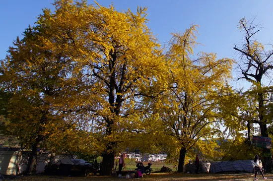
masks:
<svg viewBox="0 0 273 181"><path fill-rule="evenodd" d="M86 55L79 62L86 73L81 80L88 89L77 100L93 121L89 126L103 135L101 175L111 174L115 150L126 139L123 133L142 128L136 123L146 110L141 102L154 96L154 85L164 76L161 50L145 24L145 10L139 7L134 14L90 5L80 26Z"/></svg>

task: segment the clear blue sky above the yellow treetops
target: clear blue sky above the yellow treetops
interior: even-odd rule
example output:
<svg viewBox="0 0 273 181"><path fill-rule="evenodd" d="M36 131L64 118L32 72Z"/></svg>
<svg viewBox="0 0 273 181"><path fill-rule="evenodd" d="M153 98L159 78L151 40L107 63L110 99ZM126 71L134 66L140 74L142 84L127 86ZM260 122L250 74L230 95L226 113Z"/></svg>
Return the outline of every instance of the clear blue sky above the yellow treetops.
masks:
<svg viewBox="0 0 273 181"><path fill-rule="evenodd" d="M42 8L54 0L0 1L0 59L8 47L29 25L33 25ZM136 10L137 5L148 7L148 27L164 44L174 31L183 32L191 24L199 24L199 51L217 53L218 58L238 59L232 47L243 40L237 29L240 18L256 17L264 29L257 37L263 43L273 43L273 0L97 0L103 6L112 2L117 10ZM94 3L88 0L88 3ZM236 77L234 72L234 77ZM236 84L236 85L235 85ZM234 83L236 87L243 83Z"/></svg>

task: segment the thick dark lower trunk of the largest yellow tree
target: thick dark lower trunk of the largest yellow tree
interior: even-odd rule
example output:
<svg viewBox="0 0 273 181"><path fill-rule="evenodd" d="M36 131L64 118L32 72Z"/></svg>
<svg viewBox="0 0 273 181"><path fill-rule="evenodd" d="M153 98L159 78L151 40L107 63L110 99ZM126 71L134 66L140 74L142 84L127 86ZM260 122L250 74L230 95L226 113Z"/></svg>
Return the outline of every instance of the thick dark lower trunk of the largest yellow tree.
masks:
<svg viewBox="0 0 273 181"><path fill-rule="evenodd" d="M113 150L105 150L102 154L102 163L100 166L101 176L111 176L114 167L115 152Z"/></svg>

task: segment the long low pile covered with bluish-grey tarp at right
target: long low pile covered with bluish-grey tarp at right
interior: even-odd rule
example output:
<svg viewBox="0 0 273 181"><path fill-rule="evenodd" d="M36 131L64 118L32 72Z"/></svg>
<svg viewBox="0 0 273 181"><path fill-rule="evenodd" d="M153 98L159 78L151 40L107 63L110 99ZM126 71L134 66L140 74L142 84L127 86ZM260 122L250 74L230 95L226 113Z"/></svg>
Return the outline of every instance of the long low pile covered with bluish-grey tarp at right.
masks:
<svg viewBox="0 0 273 181"><path fill-rule="evenodd" d="M237 160L237 161L222 161L212 162L210 164L209 172L254 172L254 161L253 160Z"/></svg>

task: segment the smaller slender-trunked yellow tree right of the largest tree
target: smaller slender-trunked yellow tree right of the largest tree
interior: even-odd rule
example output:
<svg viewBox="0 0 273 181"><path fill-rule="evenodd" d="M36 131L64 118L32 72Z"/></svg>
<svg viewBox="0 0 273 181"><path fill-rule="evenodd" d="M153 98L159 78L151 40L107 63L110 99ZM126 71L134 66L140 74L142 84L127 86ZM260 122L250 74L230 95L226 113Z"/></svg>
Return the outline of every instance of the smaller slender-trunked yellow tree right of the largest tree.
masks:
<svg viewBox="0 0 273 181"><path fill-rule="evenodd" d="M168 90L161 102L161 118L180 148L178 172L183 172L187 151L201 139L219 132L222 121L217 114L216 92L231 77L233 61L216 59L216 54L201 52L194 59L197 25L184 33L173 33L166 54L170 66Z"/></svg>

